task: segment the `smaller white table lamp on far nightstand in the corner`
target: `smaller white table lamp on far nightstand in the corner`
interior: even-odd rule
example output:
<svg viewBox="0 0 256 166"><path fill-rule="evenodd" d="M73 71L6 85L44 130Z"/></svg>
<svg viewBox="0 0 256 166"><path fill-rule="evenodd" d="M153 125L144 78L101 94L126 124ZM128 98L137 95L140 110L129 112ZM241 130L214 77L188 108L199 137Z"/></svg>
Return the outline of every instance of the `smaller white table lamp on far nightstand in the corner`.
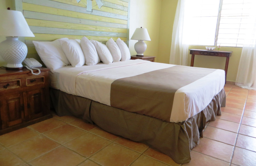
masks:
<svg viewBox="0 0 256 166"><path fill-rule="evenodd" d="M147 44L143 41L151 41L147 29L142 27L136 28L131 40L138 40L138 42L134 44L134 49L137 52L136 56L143 57L143 53L147 49Z"/></svg>

